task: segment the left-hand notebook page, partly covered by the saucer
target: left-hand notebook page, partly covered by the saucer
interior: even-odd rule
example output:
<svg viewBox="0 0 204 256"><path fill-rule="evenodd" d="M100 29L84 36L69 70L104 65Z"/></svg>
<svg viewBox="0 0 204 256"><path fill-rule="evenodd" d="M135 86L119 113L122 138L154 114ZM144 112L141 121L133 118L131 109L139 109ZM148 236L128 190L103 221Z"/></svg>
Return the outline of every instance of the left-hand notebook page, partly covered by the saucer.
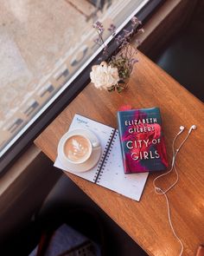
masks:
<svg viewBox="0 0 204 256"><path fill-rule="evenodd" d="M74 115L73 121L72 121L72 123L69 127L69 131L71 131L75 128L90 129L97 136L97 138L99 139L100 145L101 145L101 148L102 148L102 154L103 154L103 152L105 151L107 141L109 140L110 135L112 134L113 128L111 128L107 125L104 125L102 123L99 123L97 121L93 121L89 118L86 118L85 116L78 115L78 114ZM101 155L101 158L102 158L102 155ZM54 167L61 168L64 171L75 174L75 175L77 175L81 178L86 179L87 181L92 181L92 182L94 182L94 176L97 172L98 166L99 166L99 163L95 167L92 167L92 169L90 169L87 172L77 173L76 172L77 167L76 167L75 170L74 170L74 168L72 170L70 170L70 169L67 170L66 167L64 167L62 165L62 163L61 163L61 161L59 160L58 157L57 157L56 161L54 162Z"/></svg>

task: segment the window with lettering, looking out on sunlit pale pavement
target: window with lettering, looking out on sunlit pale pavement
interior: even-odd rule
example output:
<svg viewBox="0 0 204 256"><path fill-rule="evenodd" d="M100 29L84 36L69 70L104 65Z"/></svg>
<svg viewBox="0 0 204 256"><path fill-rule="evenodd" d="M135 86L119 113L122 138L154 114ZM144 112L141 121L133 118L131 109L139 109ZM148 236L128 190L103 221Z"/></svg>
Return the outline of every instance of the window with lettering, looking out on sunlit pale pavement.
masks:
<svg viewBox="0 0 204 256"><path fill-rule="evenodd" d="M2 159L101 51L93 43L93 21L99 19L105 27L114 23L122 30L147 3L149 0L2 1ZM109 36L105 35L107 42Z"/></svg>

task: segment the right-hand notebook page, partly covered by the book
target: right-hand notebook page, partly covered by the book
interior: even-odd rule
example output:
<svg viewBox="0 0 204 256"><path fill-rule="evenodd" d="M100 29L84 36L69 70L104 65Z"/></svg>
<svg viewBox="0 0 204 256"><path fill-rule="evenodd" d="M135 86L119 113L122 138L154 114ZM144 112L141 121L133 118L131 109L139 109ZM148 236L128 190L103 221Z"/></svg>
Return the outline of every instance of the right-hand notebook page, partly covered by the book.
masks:
<svg viewBox="0 0 204 256"><path fill-rule="evenodd" d="M106 161L99 185L117 191L134 200L140 200L148 173L124 174L118 130L112 150Z"/></svg>

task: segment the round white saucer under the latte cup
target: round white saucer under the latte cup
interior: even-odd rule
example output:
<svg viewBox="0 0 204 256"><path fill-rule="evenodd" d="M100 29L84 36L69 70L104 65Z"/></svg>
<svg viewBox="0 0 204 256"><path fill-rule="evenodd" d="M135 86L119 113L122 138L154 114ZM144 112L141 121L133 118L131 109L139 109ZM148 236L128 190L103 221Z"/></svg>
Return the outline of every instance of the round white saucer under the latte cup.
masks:
<svg viewBox="0 0 204 256"><path fill-rule="evenodd" d="M73 164L67 161L67 157L63 151L63 146L65 141L67 141L67 137L72 134L74 135L76 133L85 135L92 142L92 144L99 145L96 148L92 148L92 154L89 157L89 159L86 162L80 163L80 164ZM94 133L91 130L85 129L85 128L76 128L71 131L68 131L65 135L61 137L61 141L58 144L57 152L58 152L58 157L59 157L59 160L61 161L61 164L64 167L66 167L67 170L70 170L71 172L75 172L75 173L79 173L79 172L81 173L81 172L86 172L90 170L92 167L94 167L97 164L101 155L101 146L100 146L99 139L97 138L96 135L94 135Z"/></svg>

